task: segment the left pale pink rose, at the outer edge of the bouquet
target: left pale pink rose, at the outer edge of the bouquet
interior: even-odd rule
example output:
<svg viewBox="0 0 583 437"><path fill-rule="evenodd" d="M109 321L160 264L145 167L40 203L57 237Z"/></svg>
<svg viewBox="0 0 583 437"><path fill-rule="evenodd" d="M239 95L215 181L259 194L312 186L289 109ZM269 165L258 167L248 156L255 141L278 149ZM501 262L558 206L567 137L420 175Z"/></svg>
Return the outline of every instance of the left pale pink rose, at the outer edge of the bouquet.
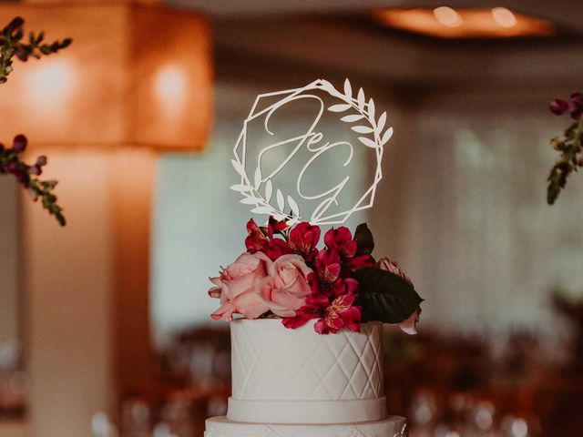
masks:
<svg viewBox="0 0 583 437"><path fill-rule="evenodd" d="M210 278L216 287L209 290L212 298L219 298L221 306L210 317L213 320L233 320L233 313L246 319L257 319L269 310L255 292L256 283L267 276L271 260L262 252L243 253L217 278Z"/></svg>

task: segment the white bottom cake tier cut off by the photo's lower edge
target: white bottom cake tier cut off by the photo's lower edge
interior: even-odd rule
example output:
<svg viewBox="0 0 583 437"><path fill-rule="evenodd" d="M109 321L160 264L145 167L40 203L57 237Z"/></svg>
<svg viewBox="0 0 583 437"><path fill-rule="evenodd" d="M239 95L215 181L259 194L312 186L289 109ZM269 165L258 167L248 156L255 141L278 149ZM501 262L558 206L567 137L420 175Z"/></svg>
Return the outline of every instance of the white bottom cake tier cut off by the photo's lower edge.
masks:
<svg viewBox="0 0 583 437"><path fill-rule="evenodd" d="M406 437L404 417L343 424L267 424L232 422L226 417L207 419L204 437Z"/></svg>

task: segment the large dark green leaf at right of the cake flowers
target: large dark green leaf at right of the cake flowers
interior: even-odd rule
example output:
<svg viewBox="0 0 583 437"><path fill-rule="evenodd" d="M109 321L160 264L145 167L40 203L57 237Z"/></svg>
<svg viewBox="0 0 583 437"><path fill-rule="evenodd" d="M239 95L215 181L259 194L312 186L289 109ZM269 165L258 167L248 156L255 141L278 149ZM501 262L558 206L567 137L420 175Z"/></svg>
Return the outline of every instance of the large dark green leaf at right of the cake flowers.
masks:
<svg viewBox="0 0 583 437"><path fill-rule="evenodd" d="M390 271L359 269L354 272L354 279L359 282L356 303L363 308L363 321L400 323L423 301L411 284Z"/></svg>

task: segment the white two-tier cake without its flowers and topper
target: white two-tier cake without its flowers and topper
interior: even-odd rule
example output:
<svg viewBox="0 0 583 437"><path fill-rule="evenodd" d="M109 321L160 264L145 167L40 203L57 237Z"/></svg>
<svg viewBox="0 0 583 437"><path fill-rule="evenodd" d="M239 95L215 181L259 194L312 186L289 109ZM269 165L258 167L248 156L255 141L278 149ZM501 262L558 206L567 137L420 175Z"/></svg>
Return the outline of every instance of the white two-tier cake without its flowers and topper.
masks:
<svg viewBox="0 0 583 437"><path fill-rule="evenodd" d="M404 437L384 399L383 325L320 335L313 323L234 320L232 396L205 437Z"/></svg>

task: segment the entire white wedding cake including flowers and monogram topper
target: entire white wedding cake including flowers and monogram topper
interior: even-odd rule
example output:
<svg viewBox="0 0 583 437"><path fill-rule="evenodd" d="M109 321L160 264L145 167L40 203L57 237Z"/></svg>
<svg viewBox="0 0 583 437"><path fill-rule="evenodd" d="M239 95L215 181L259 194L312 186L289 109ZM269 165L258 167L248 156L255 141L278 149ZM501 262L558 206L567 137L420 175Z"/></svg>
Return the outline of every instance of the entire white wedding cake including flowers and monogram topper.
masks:
<svg viewBox="0 0 583 437"><path fill-rule="evenodd" d="M314 118L304 134L288 137L270 120L300 100L314 106ZM324 114L344 127L341 141L322 132ZM262 141L252 127L265 134ZM349 133L358 134L353 142L345 139ZM407 434L405 419L386 412L383 323L414 333L423 299L396 262L373 258L365 223L354 232L342 226L373 206L392 136L387 113L348 79L342 89L318 79L255 100L233 149L230 162L240 179L230 188L253 214L266 217L247 222L245 251L210 278L209 295L220 301L210 317L230 322L232 396L225 417L207 420L205 437ZM362 195L343 198L349 181L361 180L350 166L364 154L376 170L351 188L367 187ZM322 163L330 155L343 157L330 161L340 163L334 178L344 175L343 182L309 186L304 175L328 165ZM292 160L302 169L286 184Z"/></svg>

